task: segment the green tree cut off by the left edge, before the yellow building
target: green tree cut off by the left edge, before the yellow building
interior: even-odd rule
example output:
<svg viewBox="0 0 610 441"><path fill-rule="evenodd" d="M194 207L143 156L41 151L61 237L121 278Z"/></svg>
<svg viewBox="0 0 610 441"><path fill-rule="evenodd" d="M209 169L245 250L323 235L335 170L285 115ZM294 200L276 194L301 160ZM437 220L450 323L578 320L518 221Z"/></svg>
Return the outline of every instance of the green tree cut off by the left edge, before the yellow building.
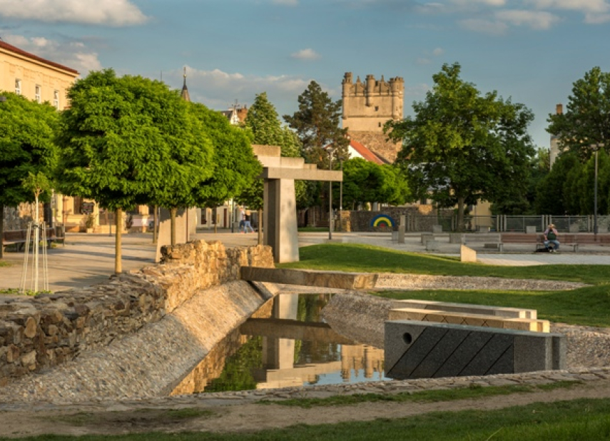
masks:
<svg viewBox="0 0 610 441"><path fill-rule="evenodd" d="M36 103L16 93L0 92L0 238L4 233L4 207L33 202L34 193L22 185L29 174L50 178L58 149L54 144L57 112L49 103ZM41 199L48 199L42 193ZM3 257L0 245L0 258Z"/></svg>

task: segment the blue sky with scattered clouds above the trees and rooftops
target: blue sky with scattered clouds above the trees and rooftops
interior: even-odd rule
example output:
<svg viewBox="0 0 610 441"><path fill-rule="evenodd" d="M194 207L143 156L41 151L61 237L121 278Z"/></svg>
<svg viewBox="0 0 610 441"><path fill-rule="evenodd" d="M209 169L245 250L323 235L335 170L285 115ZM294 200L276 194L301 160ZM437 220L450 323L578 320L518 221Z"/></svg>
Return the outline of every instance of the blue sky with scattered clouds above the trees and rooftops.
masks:
<svg viewBox="0 0 610 441"><path fill-rule="evenodd" d="M405 115L443 64L479 91L549 113L594 66L610 70L610 0L0 0L0 38L89 71L159 79L225 110L266 92L298 110L316 81L341 98L345 72L405 80Z"/></svg>

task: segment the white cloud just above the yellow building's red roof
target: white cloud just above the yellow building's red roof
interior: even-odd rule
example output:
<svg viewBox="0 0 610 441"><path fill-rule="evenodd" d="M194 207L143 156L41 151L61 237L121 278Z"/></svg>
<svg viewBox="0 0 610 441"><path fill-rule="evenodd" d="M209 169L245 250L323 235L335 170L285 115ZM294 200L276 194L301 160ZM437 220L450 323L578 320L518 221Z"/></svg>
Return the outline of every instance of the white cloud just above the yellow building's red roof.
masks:
<svg viewBox="0 0 610 441"><path fill-rule="evenodd" d="M88 71L102 69L97 52L88 49L82 41L55 41L45 37L26 38L1 29L0 34L6 43L43 59L76 69L81 76L86 76Z"/></svg>

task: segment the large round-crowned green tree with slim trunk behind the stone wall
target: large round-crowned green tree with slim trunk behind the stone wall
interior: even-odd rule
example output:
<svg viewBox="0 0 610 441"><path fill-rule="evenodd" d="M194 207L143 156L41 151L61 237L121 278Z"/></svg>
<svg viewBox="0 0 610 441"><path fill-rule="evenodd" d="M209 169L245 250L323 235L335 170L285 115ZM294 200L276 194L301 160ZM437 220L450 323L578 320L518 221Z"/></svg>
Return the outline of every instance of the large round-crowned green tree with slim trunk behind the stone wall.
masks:
<svg viewBox="0 0 610 441"><path fill-rule="evenodd" d="M193 188L212 172L211 144L187 103L160 81L93 71L68 98L58 137L61 189L116 211L120 273L123 210L191 206Z"/></svg>

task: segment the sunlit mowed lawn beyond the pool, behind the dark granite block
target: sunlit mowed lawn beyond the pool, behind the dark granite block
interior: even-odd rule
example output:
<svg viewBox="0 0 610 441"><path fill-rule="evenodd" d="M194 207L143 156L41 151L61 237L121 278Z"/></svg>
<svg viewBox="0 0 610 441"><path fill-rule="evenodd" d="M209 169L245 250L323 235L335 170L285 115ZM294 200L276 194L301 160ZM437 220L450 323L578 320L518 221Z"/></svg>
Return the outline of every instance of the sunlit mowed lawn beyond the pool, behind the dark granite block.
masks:
<svg viewBox="0 0 610 441"><path fill-rule="evenodd" d="M300 248L300 261L282 268L369 273L471 275L568 280L592 286L562 291L410 290L377 292L385 298L436 300L538 310L554 323L610 327L610 268L607 265L492 266L461 263L456 258L402 253L370 245L322 244Z"/></svg>

